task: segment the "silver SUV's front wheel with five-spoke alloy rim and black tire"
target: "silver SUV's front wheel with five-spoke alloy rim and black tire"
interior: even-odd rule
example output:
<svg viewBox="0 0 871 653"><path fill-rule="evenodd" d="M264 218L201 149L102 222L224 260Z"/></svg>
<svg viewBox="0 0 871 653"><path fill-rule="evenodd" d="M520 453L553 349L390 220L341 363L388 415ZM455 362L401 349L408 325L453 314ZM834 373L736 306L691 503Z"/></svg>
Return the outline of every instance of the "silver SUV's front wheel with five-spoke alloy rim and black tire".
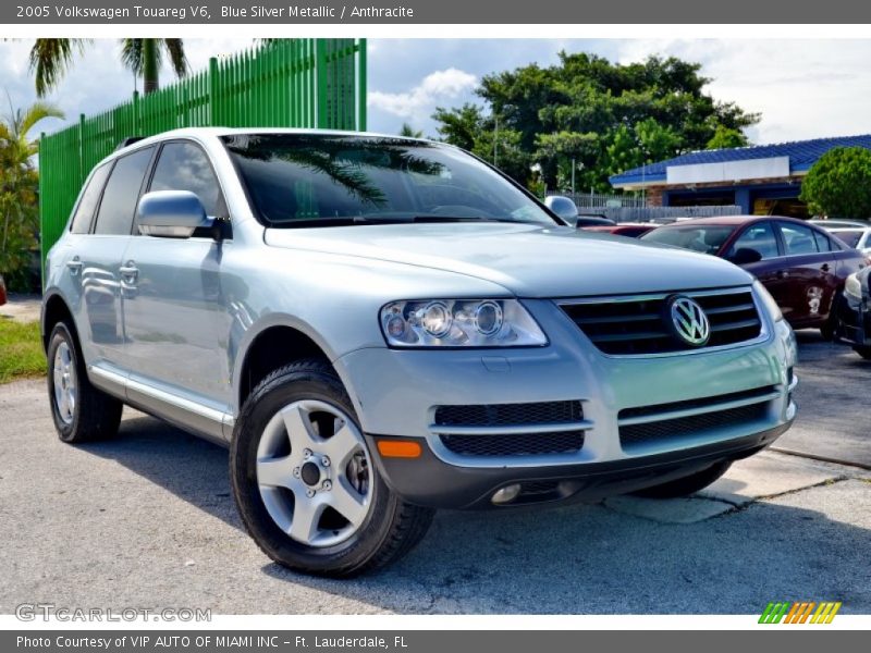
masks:
<svg viewBox="0 0 871 653"><path fill-rule="evenodd" d="M233 432L230 478L263 553L318 576L351 577L397 560L434 514L387 486L344 386L317 359L275 370L252 392Z"/></svg>

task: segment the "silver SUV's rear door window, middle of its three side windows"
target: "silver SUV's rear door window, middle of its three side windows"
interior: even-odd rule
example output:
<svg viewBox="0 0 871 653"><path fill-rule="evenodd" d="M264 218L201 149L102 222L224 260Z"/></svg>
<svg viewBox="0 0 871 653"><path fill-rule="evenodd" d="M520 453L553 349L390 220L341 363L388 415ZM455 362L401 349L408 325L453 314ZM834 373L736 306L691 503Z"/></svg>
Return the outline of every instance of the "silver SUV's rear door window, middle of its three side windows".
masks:
<svg viewBox="0 0 871 653"><path fill-rule="evenodd" d="M115 161L106 190L102 194L100 209L97 212L95 234L128 235L133 227L133 214L139 189L143 187L145 172L151 161L154 147L121 157Z"/></svg>

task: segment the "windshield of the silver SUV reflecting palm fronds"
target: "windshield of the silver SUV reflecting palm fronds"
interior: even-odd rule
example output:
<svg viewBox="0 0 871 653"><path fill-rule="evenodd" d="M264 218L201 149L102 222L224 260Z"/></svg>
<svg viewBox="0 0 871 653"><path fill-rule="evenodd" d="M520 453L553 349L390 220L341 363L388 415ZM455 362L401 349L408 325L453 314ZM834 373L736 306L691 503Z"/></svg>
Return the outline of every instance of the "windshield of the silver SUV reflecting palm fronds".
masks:
<svg viewBox="0 0 871 653"><path fill-rule="evenodd" d="M555 221L525 193L452 147L319 134L224 137L267 226Z"/></svg>

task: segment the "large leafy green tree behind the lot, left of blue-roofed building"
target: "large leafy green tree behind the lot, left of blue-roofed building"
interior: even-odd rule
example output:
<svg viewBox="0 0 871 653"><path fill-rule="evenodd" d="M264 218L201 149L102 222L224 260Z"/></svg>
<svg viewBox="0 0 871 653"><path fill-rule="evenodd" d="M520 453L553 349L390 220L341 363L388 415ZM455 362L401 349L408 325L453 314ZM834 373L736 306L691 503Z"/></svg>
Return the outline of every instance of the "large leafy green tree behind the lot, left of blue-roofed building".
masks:
<svg viewBox="0 0 871 653"><path fill-rule="evenodd" d="M576 183L610 190L611 174L704 149L717 131L721 138L743 137L741 131L759 121L758 114L708 95L710 79L700 70L676 58L623 65L562 52L549 67L531 64L486 75L476 93L491 108L489 124L517 135L516 158L526 159L508 173L519 175L517 181L526 183L538 164L549 187L564 186L574 160ZM471 151L491 138L475 104L440 108L433 119L442 138Z"/></svg>

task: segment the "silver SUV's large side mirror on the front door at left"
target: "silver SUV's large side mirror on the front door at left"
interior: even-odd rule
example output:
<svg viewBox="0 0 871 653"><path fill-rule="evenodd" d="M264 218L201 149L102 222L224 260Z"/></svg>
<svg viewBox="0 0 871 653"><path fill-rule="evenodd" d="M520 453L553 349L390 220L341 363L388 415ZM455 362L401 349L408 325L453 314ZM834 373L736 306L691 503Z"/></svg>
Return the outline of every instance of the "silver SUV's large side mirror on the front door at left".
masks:
<svg viewBox="0 0 871 653"><path fill-rule="evenodd" d="M209 227L206 209L188 190L146 193L136 207L139 233L163 238L189 238L198 227Z"/></svg>

